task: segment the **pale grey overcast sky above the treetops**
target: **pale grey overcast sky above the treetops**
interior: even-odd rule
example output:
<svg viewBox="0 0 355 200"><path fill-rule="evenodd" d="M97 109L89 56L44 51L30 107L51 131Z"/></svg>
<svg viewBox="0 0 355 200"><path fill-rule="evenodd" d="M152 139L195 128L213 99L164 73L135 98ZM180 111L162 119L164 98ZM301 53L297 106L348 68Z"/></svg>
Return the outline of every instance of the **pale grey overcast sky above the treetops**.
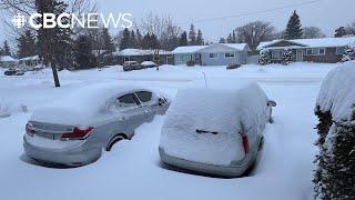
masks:
<svg viewBox="0 0 355 200"><path fill-rule="evenodd" d="M310 0L98 0L100 12L131 12L140 21L149 12L170 14L183 29L195 21L195 27L202 29L204 37L217 41L232 29L250 21L265 20L272 22L278 30L285 29L293 10L297 10L303 26L320 27L327 36L333 36L334 29L346 26L355 20L355 0L322 0L312 4L286 8L247 17L231 18L217 21L196 22L225 16L251 13ZM6 38L0 29L0 40ZM116 32L113 30L112 33Z"/></svg>

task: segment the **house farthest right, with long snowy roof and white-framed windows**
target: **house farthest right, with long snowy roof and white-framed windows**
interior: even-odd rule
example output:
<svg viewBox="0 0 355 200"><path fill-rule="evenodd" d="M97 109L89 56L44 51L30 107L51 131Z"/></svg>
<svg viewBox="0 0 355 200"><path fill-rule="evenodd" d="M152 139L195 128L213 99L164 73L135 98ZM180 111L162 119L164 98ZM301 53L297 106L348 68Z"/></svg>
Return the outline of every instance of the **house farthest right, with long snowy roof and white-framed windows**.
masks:
<svg viewBox="0 0 355 200"><path fill-rule="evenodd" d="M257 50L270 50L274 63L282 62L285 49L292 50L294 62L335 63L342 60L344 48L352 43L355 37L273 40L261 42Z"/></svg>

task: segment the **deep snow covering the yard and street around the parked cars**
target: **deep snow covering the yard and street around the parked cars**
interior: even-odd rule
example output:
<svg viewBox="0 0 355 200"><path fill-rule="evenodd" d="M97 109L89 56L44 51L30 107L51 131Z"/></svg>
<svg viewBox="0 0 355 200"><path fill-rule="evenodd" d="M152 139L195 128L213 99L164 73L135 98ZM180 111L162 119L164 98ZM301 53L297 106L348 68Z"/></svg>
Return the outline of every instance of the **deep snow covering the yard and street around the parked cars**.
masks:
<svg viewBox="0 0 355 200"><path fill-rule="evenodd" d="M288 67L161 67L123 72L121 67L102 71L61 71L62 87L53 88L50 70L4 77L0 68L0 199L312 199L313 159L316 148L313 114L321 80L336 64L295 63ZM203 77L250 79L260 82L277 102L275 123L265 130L265 144L255 169L244 178L217 179L181 173L160 164L158 146L164 117L136 130L97 162L73 169L33 164L23 154L22 136L31 112L83 86L116 81L156 87L172 97L176 89L204 84ZM22 106L28 108L23 112ZM2 109L2 110L1 110ZM89 108L88 108L89 109Z"/></svg>

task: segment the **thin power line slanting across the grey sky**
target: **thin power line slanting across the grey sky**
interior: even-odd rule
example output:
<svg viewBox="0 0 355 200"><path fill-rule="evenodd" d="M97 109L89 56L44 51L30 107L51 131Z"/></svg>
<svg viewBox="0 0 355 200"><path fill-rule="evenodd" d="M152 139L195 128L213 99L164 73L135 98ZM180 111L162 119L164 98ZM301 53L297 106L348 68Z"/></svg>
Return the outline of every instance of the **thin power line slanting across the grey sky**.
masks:
<svg viewBox="0 0 355 200"><path fill-rule="evenodd" d="M276 10L283 10L283 9L288 9L288 8L302 7L302 6L306 6L306 4L313 4L313 3L321 2L321 1L324 1L324 0L311 0L311 1L304 1L301 3L287 4L287 6L283 6L283 7L276 7L276 8L260 10L260 11L254 11L254 12L247 12L247 13L241 13L241 14L234 14L234 16L225 16L225 17L220 17L220 18L193 20L193 23L220 21L220 20L224 20L224 19L240 18L240 17L245 17L245 16L254 16L254 14L258 14L258 13L265 13L265 12L272 12L272 11L276 11ZM181 22L178 24L182 26L182 24L190 24L190 23L191 23L191 21L190 22Z"/></svg>

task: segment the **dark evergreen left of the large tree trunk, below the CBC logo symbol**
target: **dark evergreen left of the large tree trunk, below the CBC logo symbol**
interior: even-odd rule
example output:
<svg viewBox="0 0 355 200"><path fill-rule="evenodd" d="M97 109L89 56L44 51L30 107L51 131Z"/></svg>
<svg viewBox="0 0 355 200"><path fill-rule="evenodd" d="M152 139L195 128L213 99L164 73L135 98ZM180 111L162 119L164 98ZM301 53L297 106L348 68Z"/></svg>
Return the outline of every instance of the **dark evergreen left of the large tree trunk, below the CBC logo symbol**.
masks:
<svg viewBox="0 0 355 200"><path fill-rule="evenodd" d="M18 56L20 58L31 57L37 54L36 38L30 30L24 31L24 34L17 39Z"/></svg>

